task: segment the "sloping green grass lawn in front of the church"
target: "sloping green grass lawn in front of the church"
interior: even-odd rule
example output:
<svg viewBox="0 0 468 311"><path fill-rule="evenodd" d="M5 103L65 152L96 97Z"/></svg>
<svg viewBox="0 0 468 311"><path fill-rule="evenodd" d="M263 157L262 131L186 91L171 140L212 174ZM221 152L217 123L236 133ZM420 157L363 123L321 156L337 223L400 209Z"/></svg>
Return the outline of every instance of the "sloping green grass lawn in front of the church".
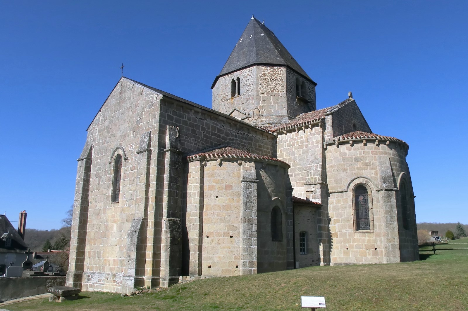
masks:
<svg viewBox="0 0 468 311"><path fill-rule="evenodd" d="M468 238L457 242L466 243ZM435 255L428 253L423 257L419 262L311 267L211 278L136 297L82 292L82 298L75 301L50 303L37 299L5 308L12 311L299 311L308 310L300 308L301 296L325 296L325 310L329 311L468 310L468 250L437 251Z"/></svg>

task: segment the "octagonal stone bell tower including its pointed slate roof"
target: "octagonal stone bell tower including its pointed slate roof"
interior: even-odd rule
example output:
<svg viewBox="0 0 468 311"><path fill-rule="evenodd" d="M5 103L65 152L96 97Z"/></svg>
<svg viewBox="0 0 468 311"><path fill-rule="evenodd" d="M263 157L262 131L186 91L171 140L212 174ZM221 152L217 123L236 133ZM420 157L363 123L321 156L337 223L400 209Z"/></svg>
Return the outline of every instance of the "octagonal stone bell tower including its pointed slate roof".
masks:
<svg viewBox="0 0 468 311"><path fill-rule="evenodd" d="M256 125L284 123L315 110L316 85L252 16L213 82L212 108Z"/></svg>

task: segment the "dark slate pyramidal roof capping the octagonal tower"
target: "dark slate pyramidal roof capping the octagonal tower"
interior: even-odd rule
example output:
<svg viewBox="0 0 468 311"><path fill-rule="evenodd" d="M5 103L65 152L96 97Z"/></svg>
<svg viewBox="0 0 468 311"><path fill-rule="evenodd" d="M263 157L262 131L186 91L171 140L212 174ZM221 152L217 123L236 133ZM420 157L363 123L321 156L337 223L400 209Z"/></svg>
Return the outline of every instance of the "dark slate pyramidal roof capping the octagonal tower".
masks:
<svg viewBox="0 0 468 311"><path fill-rule="evenodd" d="M213 86L219 77L254 64L284 65L316 84L279 42L276 35L252 16L226 64L215 78Z"/></svg>

